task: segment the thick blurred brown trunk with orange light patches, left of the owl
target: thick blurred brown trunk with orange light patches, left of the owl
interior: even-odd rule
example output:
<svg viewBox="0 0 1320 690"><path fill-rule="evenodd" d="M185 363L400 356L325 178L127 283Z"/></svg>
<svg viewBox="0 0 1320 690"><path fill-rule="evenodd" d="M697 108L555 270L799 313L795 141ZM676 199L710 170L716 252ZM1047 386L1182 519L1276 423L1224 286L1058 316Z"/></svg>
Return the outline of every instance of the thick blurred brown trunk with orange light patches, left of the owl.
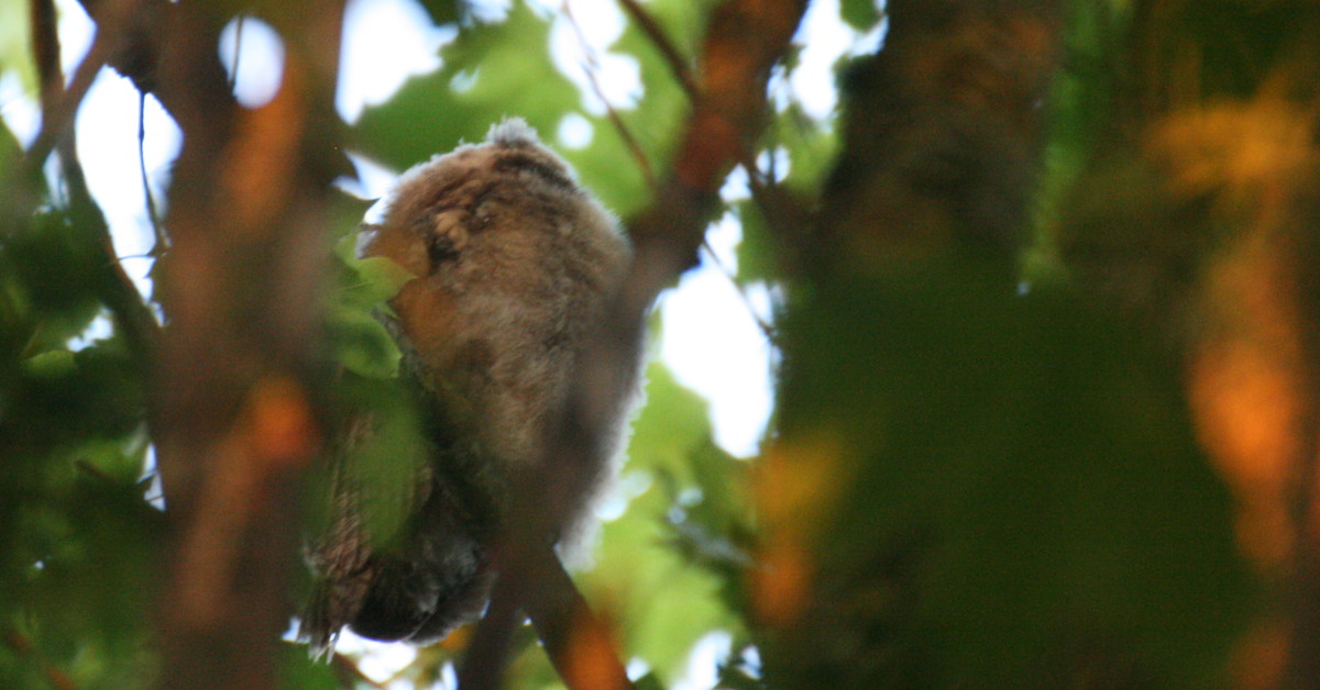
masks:
<svg viewBox="0 0 1320 690"><path fill-rule="evenodd" d="M137 1L137 0L125 0ZM150 423L170 573L157 624L161 687L276 687L301 525L301 472L319 446L312 360L322 210L341 169L334 88L343 7L255 8L288 46L263 108L234 100L216 57L230 18L198 3L87 0L103 59L183 131L157 264L169 323ZM112 47L112 49L111 49Z"/></svg>

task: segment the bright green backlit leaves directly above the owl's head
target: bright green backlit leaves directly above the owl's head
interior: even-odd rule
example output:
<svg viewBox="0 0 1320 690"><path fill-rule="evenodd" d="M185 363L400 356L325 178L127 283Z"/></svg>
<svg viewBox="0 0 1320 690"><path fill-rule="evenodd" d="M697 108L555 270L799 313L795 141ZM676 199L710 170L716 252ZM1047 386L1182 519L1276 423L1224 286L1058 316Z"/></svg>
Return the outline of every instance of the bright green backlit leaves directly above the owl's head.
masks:
<svg viewBox="0 0 1320 690"><path fill-rule="evenodd" d="M711 3L648 3L648 12L684 44L700 37L704 8ZM517 115L552 140L568 115L593 125L590 144L565 150L581 179L620 216L640 210L649 198L645 175L618 129L594 115L589 100L554 65L548 17L525 3L513 3L496 22L471 20L441 50L440 70L404 84L388 103L368 108L354 127L360 153L399 169L426 161L462 141L480 141L491 124ZM576 34L574 34L576 36ZM648 165L660 168L682 124L686 102L668 65L649 40L628 24L612 51L636 59L644 92L635 108L620 113L642 146Z"/></svg>

